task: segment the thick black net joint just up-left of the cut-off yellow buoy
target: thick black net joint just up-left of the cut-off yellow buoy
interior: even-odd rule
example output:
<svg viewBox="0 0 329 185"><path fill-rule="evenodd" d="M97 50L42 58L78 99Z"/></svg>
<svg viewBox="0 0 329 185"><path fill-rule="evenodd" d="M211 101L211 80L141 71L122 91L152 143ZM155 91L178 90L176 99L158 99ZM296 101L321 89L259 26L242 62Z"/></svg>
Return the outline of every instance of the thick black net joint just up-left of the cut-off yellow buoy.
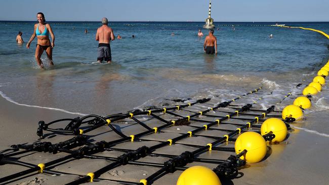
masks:
<svg viewBox="0 0 329 185"><path fill-rule="evenodd" d="M185 151L181 155L164 163L166 171L169 173L174 173L177 166L185 166L187 163L193 162L193 159L194 154L189 151Z"/></svg>

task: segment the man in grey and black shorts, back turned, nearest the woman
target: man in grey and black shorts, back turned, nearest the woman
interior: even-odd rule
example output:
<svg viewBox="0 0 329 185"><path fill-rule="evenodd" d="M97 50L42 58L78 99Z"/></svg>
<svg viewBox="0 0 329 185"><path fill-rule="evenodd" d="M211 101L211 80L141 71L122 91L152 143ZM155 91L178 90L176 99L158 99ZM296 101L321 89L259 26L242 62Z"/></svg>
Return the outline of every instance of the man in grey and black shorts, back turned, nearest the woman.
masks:
<svg viewBox="0 0 329 185"><path fill-rule="evenodd" d="M107 18L102 18L102 26L97 29L96 40L98 40L97 49L97 62L101 63L103 60L107 63L111 63L111 48L110 41L114 40L114 33L112 28L107 26Z"/></svg>

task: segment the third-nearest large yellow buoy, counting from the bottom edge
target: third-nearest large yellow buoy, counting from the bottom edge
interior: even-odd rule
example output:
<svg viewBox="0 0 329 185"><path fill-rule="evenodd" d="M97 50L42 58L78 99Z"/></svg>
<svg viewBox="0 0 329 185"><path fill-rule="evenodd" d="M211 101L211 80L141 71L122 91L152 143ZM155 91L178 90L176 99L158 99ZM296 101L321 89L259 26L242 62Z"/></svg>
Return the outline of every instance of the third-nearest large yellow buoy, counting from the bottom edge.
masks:
<svg viewBox="0 0 329 185"><path fill-rule="evenodd" d="M278 118L269 118L265 120L264 123L262 124L261 126L262 135L265 135L270 131L272 131L273 134L275 135L275 137L271 141L272 143L282 142L285 139L286 134L288 133L285 123Z"/></svg>

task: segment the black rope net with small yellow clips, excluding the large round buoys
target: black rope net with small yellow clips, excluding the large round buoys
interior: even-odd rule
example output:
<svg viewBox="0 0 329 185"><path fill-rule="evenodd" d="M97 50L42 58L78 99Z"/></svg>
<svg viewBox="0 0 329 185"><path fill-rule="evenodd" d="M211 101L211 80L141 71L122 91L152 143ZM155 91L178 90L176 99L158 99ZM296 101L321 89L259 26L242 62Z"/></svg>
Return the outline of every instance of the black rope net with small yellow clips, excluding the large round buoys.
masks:
<svg viewBox="0 0 329 185"><path fill-rule="evenodd" d="M73 175L67 184L104 180L119 184L163 183L162 176L179 174L194 165L212 168L221 179L234 179L242 176L238 169L245 161L239 157L247 152L235 154L238 134L260 133L266 117L281 117L274 106L253 109L257 104L254 100L262 101L262 96L268 94L259 87L221 103L210 98L183 100L176 106L127 114L39 121L40 141L13 145L1 152L1 164L23 166L24 170L6 174L0 183L37 173ZM253 101L236 105L245 97ZM52 143L58 135L61 142ZM273 136L263 137L271 140ZM129 175L130 171L135 171L134 175Z"/></svg>

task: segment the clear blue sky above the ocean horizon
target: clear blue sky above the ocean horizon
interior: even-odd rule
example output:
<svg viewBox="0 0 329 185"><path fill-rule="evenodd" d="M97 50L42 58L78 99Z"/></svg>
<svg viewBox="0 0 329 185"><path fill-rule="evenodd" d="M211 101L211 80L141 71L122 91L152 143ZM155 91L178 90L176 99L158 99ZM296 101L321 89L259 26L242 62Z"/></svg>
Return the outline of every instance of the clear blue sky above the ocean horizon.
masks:
<svg viewBox="0 0 329 185"><path fill-rule="evenodd" d="M204 21L209 0L0 0L0 20ZM213 0L215 21L329 21L328 0Z"/></svg>

